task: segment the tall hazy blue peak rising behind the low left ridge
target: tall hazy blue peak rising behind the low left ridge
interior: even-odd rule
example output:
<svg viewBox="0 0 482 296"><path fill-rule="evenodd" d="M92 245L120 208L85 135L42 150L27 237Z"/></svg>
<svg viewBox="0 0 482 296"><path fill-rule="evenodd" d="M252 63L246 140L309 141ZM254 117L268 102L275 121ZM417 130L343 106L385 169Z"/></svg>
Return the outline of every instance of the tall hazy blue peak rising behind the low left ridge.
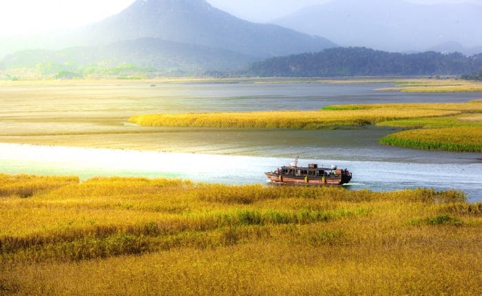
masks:
<svg viewBox="0 0 482 296"><path fill-rule="evenodd" d="M137 0L103 21L67 32L44 34L40 40L30 41L35 47L23 49L60 50L143 38L202 45L262 58L335 46L322 37L238 19L213 8L205 0ZM25 38L22 40L28 42ZM46 44L53 47L44 47Z"/></svg>

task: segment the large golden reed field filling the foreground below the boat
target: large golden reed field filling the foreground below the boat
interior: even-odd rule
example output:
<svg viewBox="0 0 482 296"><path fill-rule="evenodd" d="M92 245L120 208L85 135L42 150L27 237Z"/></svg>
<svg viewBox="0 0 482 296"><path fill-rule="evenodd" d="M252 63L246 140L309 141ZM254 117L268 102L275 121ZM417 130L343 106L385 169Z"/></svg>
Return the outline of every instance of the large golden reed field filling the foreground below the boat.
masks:
<svg viewBox="0 0 482 296"><path fill-rule="evenodd" d="M1 176L0 295L478 295L459 191ZM56 183L56 185L54 185Z"/></svg>

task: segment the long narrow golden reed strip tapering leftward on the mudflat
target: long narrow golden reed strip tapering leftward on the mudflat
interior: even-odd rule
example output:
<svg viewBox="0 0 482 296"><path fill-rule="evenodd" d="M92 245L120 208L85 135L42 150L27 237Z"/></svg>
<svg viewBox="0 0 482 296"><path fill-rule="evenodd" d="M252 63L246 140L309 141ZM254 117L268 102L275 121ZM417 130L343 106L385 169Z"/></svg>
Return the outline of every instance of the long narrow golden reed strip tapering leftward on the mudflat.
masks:
<svg viewBox="0 0 482 296"><path fill-rule="evenodd" d="M322 129L337 125L391 126L386 122L448 118L448 116L480 113L482 113L482 101L471 101L468 103L331 105L319 111L148 114L132 116L129 122L148 127Z"/></svg>

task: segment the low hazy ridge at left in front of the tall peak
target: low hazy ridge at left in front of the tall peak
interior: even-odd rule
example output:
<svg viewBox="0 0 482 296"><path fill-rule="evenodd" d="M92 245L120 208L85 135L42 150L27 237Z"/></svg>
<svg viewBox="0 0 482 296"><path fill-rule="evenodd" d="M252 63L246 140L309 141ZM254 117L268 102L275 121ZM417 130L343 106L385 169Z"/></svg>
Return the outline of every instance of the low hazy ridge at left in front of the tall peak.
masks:
<svg viewBox="0 0 482 296"><path fill-rule="evenodd" d="M184 75L238 69L255 60L253 56L229 50L143 38L94 47L25 50L6 56L1 67L6 70L36 69L43 76L53 76L63 71L88 74L92 70L101 72L135 65L136 70L143 72Z"/></svg>

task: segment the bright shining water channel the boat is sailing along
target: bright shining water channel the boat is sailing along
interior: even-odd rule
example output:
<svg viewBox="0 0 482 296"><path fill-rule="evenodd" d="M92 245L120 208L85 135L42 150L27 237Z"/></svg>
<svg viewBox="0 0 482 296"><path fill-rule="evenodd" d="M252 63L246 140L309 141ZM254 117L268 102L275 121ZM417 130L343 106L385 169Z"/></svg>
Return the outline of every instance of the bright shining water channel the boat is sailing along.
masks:
<svg viewBox="0 0 482 296"><path fill-rule="evenodd" d="M291 158L176 154L154 151L85 149L36 145L0 144L0 171L42 175L143 176L184 178L197 182L264 184L265 171L289 165ZM482 164L444 165L334 159L301 160L337 165L353 171L352 189L374 191L426 187L457 189L470 201L482 201Z"/></svg>

